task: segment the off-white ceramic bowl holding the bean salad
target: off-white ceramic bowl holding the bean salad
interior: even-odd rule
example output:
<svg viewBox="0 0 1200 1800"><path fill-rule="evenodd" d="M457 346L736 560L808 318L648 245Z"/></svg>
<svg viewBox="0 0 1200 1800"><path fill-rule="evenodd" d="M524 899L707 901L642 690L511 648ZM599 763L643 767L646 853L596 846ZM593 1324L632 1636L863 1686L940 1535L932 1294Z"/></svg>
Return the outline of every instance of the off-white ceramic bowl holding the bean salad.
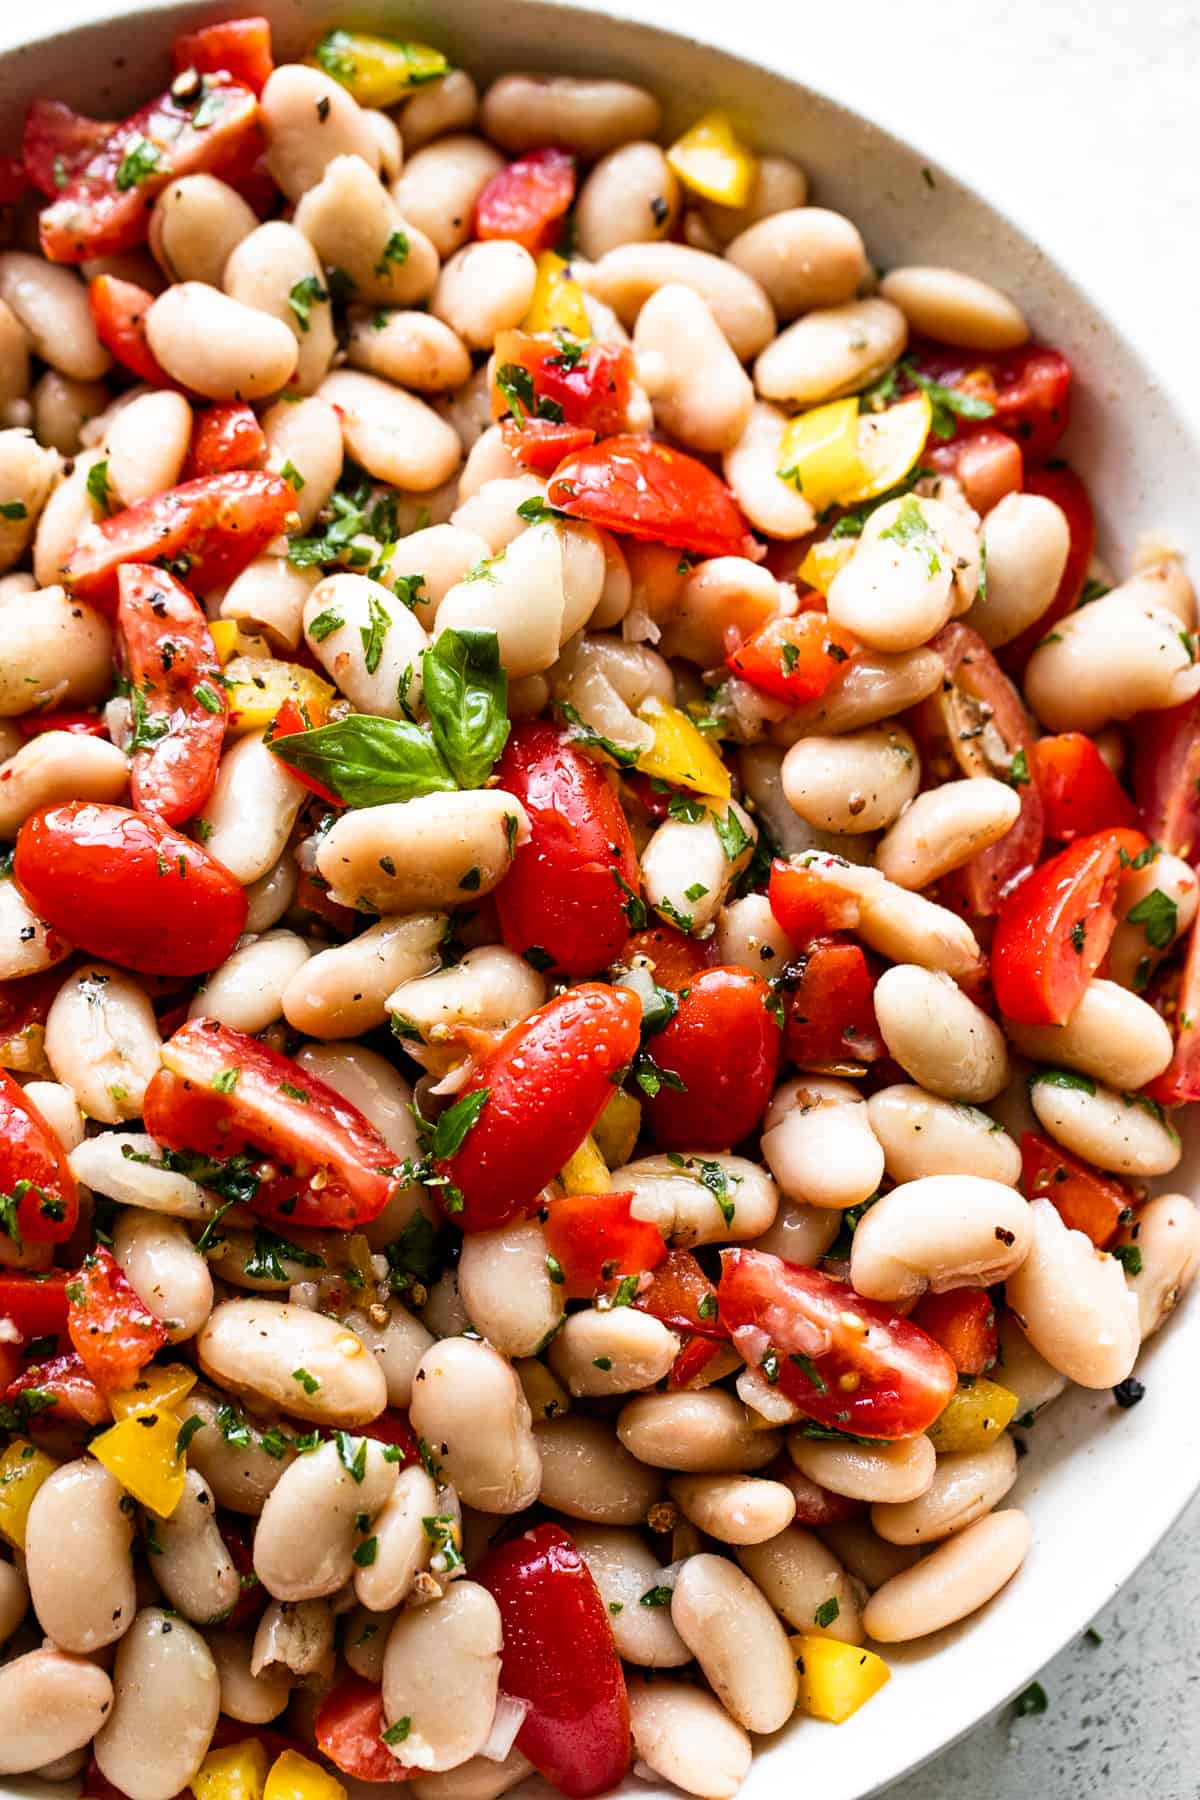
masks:
<svg viewBox="0 0 1200 1800"><path fill-rule="evenodd" d="M1141 531L1169 526L1200 571L1200 540L1189 544L1184 526L1195 520L1200 445L1164 387L1097 304L995 207L937 166L930 185L927 155L795 79L786 32L766 68L648 23L687 22L685 0L615 0L610 13L538 0L110 0L101 20L95 0L54 0L49 14L5 0L0 144L14 142L38 94L101 117L131 110L164 86L176 31L250 11L272 18L279 56L302 54L320 29L344 20L425 38L477 76L520 67L626 76L662 97L669 130L720 103L750 142L810 171L813 198L856 221L876 265L952 263L1011 292L1036 335L1074 364L1065 454L1096 500L1103 554L1123 571ZM1198 1186L1195 1138L1173 1181L1186 1192ZM745 1800L876 1793L1000 1706L1085 1629L1200 1485L1200 1433L1184 1422L1198 1343L1193 1298L1139 1361L1148 1388L1141 1406L1119 1411L1108 1393L1076 1390L1051 1408L1027 1433L1031 1454L1011 1496L1034 1526L1016 1580L966 1624L889 1649L892 1681L847 1724L802 1719L759 1741ZM637 1780L626 1787L642 1800L651 1793Z"/></svg>

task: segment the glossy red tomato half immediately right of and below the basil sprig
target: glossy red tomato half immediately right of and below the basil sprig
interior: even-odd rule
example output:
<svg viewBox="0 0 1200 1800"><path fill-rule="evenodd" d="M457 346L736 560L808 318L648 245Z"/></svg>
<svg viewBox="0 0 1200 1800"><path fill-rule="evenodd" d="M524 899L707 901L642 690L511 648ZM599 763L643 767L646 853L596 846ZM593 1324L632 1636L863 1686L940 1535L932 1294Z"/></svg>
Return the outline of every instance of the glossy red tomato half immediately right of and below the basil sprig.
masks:
<svg viewBox="0 0 1200 1800"><path fill-rule="evenodd" d="M531 826L495 889L504 941L538 945L561 974L594 976L624 950L624 909L640 889L621 801L601 765L543 720L513 727L495 772Z"/></svg>

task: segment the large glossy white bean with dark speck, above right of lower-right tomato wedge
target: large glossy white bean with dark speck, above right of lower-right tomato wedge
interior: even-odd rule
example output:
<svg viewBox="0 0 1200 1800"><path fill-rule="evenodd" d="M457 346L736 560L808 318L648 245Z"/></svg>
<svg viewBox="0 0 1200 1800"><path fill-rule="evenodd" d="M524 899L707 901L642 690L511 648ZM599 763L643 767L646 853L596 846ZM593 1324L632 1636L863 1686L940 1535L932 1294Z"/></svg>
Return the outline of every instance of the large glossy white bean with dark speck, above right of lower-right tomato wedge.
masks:
<svg viewBox="0 0 1200 1800"><path fill-rule="evenodd" d="M876 1201L855 1231L851 1282L867 1300L916 1300L927 1287L991 1287L1031 1251L1027 1201L982 1175L923 1175Z"/></svg>

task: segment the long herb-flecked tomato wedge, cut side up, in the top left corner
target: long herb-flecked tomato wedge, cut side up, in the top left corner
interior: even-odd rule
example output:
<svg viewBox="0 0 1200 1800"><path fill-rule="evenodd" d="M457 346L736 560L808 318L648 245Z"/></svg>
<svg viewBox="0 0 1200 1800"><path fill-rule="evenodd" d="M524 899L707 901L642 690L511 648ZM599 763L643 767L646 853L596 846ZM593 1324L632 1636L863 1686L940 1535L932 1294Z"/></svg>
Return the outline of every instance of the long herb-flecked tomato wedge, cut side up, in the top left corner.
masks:
<svg viewBox="0 0 1200 1800"><path fill-rule="evenodd" d="M146 243L155 194L180 175L219 175L257 130L259 103L237 81L198 83L187 101L160 94L70 173L43 209L41 250L86 263Z"/></svg>

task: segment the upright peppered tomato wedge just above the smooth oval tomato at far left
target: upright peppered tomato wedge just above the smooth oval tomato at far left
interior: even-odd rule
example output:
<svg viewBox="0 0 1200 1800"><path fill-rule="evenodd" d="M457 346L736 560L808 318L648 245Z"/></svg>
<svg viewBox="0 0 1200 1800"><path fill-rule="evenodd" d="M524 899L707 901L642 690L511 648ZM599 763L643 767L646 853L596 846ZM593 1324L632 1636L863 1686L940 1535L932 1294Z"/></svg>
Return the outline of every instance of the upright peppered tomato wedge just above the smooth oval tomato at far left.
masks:
<svg viewBox="0 0 1200 1800"><path fill-rule="evenodd" d="M117 639L133 695L130 794L139 812L184 824L216 783L228 700L203 608L166 569L122 563Z"/></svg>

